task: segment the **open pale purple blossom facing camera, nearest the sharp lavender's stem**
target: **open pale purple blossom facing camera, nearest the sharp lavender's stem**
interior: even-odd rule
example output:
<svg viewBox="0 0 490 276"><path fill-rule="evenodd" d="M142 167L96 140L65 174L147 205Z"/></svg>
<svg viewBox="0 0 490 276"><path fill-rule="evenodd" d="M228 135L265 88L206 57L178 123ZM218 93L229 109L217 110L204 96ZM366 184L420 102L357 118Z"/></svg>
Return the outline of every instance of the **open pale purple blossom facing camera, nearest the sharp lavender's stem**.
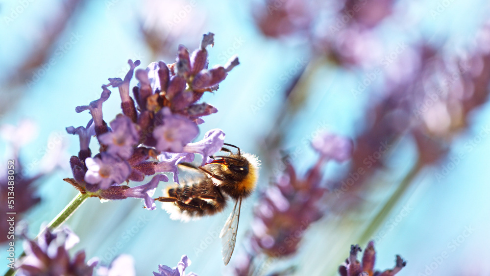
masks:
<svg viewBox="0 0 490 276"><path fill-rule="evenodd" d="M88 169L85 181L90 184L98 184L100 189L107 189L113 183L123 183L131 172L129 164L108 154L102 153L100 156L100 158L85 159Z"/></svg>

